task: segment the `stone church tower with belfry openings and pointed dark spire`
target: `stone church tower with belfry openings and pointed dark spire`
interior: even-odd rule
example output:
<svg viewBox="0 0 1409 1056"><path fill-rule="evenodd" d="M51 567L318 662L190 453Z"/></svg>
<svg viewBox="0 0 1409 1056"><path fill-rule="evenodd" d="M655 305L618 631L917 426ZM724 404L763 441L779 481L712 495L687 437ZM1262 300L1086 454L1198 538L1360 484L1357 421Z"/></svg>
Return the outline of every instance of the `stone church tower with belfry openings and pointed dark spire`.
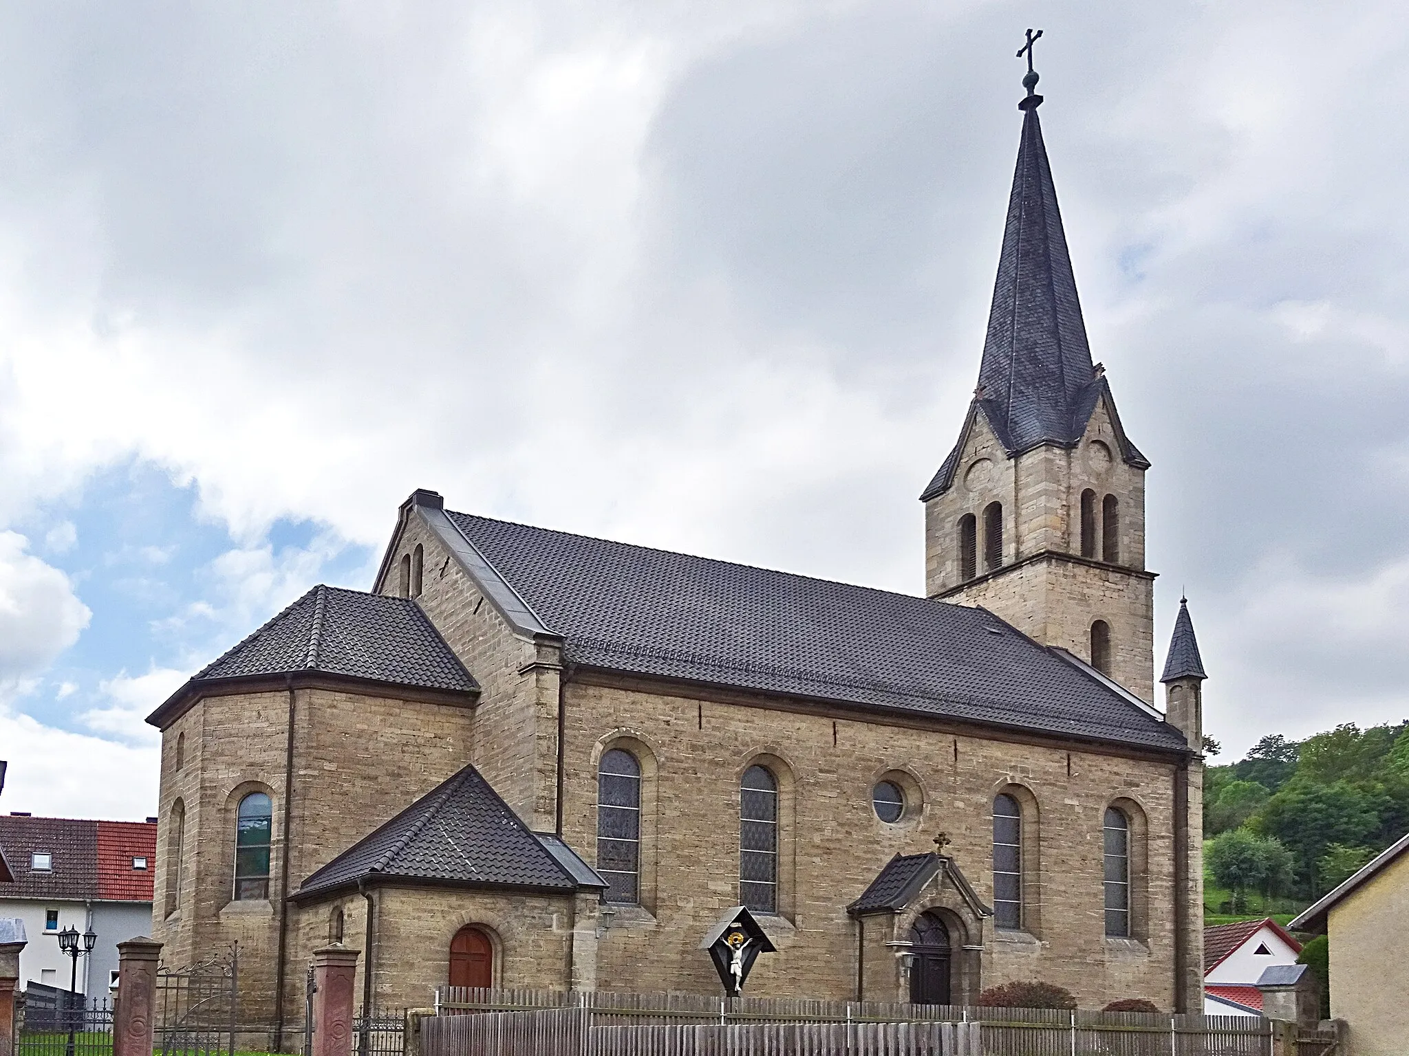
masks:
<svg viewBox="0 0 1409 1056"><path fill-rule="evenodd" d="M926 594L982 605L1154 700L1150 462L1092 363L1034 89L1027 97L978 389L924 489Z"/></svg>

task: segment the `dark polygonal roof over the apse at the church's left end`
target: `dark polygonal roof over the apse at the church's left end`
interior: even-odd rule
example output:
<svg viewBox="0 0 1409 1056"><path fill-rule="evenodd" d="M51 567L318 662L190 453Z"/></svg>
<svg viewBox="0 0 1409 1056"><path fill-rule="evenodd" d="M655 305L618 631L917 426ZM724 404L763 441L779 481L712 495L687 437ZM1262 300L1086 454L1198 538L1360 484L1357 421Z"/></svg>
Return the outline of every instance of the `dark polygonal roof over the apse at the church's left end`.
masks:
<svg viewBox="0 0 1409 1056"><path fill-rule="evenodd" d="M431 690L479 690L414 601L320 584L192 676L147 721L154 722L203 684L299 672Z"/></svg>

